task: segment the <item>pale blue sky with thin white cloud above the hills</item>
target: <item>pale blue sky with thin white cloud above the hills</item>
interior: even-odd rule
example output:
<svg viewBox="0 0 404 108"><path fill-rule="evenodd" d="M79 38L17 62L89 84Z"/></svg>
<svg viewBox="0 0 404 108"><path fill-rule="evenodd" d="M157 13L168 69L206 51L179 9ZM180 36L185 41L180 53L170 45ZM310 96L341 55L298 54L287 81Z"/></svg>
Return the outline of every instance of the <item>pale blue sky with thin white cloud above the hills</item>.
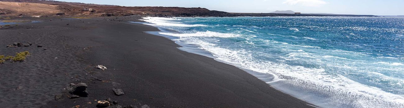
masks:
<svg viewBox="0 0 404 108"><path fill-rule="evenodd" d="M225 12L404 15L404 0L58 0L120 6L201 7Z"/></svg>

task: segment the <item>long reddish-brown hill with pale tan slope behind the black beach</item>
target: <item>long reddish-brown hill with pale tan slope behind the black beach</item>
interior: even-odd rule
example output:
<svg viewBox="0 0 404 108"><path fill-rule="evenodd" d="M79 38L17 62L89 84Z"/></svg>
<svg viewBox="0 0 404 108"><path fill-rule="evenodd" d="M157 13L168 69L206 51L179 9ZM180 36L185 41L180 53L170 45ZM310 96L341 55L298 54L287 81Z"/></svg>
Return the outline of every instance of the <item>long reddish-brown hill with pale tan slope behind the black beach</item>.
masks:
<svg viewBox="0 0 404 108"><path fill-rule="evenodd" d="M227 12L211 11L206 8L126 7L126 6L84 4L75 2L59 2L59 1L45 1L45 0L1 0L1 1L9 2L8 4L0 5L1 8L12 11L11 14L7 14L8 16L15 16L18 14L26 14L26 13L29 13L30 16L34 15L56 16L56 13L59 12L65 13L64 16L128 16L128 15L218 16L228 14ZM34 7L35 10L38 10L38 12L34 12L32 11L32 9L25 8L21 5L15 6L15 4L26 4L28 6L32 6ZM43 6L40 6L38 4L42 4ZM85 10L84 8L87 9L91 8L94 9L94 11Z"/></svg>

